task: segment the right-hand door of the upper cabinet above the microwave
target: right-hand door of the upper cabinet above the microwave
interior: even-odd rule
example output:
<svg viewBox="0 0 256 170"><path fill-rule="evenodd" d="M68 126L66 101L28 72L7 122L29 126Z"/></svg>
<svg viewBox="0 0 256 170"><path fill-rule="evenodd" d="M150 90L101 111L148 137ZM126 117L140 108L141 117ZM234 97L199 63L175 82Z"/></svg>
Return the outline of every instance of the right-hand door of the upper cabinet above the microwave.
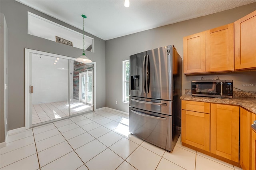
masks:
<svg viewBox="0 0 256 170"><path fill-rule="evenodd" d="M234 70L234 24L205 32L206 72Z"/></svg>

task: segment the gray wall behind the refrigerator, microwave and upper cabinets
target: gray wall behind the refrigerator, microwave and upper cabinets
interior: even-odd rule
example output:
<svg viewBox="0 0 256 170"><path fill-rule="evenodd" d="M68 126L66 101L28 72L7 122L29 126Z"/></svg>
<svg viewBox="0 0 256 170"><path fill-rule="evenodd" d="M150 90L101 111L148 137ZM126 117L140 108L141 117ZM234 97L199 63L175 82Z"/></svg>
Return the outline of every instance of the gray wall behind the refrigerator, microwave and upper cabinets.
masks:
<svg viewBox="0 0 256 170"><path fill-rule="evenodd" d="M128 112L128 104L122 103L122 61L129 59L130 55L173 44L183 58L184 36L232 23L254 10L256 3L106 41L106 107ZM201 76L204 76L204 79L217 79L216 75L220 79L233 79L234 87L256 91L256 87L242 85L256 83L255 73L254 71L200 76L183 74L182 94L185 89L191 89L191 80L198 80Z"/></svg>

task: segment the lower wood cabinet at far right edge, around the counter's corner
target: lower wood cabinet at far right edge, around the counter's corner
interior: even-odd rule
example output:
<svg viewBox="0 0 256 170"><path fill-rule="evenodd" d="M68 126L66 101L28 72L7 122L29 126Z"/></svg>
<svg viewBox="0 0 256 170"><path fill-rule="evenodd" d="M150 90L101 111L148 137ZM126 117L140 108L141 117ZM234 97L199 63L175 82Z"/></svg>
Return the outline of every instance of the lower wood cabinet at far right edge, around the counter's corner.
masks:
<svg viewBox="0 0 256 170"><path fill-rule="evenodd" d="M254 113L240 108L240 165L244 170L255 170L255 132L251 125Z"/></svg>

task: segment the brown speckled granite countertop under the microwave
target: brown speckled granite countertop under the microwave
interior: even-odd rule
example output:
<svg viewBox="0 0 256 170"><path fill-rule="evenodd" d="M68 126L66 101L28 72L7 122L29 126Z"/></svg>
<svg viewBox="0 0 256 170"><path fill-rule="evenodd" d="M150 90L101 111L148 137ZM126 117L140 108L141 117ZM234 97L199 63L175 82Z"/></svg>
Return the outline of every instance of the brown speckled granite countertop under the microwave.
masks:
<svg viewBox="0 0 256 170"><path fill-rule="evenodd" d="M185 94L185 95L182 95L180 99L189 100L189 101L220 103L220 104L227 104L227 105L238 105L256 114L256 98L251 98L251 97L233 97L232 99L221 99L221 98L212 98L212 97L195 97L195 96L192 96L191 94Z"/></svg>

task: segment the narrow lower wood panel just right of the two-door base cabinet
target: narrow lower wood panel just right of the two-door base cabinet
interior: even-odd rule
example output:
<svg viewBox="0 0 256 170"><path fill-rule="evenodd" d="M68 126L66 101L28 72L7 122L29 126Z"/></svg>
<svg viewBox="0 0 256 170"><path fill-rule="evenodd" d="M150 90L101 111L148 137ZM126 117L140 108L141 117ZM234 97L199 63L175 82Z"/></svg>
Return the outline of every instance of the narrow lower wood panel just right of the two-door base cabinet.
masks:
<svg viewBox="0 0 256 170"><path fill-rule="evenodd" d="M251 135L251 114L243 108L240 108L240 165L244 170L250 170L250 141Z"/></svg>

